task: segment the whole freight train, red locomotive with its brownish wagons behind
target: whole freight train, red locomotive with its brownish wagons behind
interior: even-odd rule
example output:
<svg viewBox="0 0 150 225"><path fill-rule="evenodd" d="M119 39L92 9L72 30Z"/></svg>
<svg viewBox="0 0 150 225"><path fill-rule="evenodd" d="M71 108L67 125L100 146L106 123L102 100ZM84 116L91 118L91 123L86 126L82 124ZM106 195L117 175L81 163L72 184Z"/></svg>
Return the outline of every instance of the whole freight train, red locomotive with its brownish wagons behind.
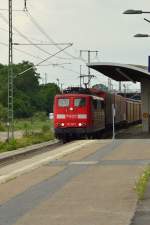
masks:
<svg viewBox="0 0 150 225"><path fill-rule="evenodd" d="M64 142L72 137L97 137L115 125L141 121L141 101L99 89L68 88L54 99L54 131Z"/></svg>

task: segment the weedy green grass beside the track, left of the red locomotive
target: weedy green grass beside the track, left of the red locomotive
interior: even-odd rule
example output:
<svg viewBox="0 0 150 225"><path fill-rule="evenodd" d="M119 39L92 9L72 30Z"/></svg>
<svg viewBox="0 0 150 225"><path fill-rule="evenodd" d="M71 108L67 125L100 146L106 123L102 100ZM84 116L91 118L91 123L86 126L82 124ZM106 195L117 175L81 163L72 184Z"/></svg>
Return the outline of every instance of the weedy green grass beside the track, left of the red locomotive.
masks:
<svg viewBox="0 0 150 225"><path fill-rule="evenodd" d="M30 119L15 120L14 130L23 131L23 137L0 142L0 153L54 139L52 127L53 121L40 113Z"/></svg>

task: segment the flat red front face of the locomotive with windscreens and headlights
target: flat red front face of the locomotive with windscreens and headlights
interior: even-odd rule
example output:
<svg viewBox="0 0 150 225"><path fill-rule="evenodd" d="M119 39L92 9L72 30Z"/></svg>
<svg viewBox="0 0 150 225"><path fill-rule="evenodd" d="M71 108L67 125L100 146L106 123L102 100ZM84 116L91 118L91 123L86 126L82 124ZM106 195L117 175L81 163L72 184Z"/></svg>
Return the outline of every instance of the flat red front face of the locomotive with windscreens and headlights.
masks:
<svg viewBox="0 0 150 225"><path fill-rule="evenodd" d="M83 94L57 95L54 102L54 128L58 138L85 133L91 123L90 99ZM80 128L80 129L79 129Z"/></svg>

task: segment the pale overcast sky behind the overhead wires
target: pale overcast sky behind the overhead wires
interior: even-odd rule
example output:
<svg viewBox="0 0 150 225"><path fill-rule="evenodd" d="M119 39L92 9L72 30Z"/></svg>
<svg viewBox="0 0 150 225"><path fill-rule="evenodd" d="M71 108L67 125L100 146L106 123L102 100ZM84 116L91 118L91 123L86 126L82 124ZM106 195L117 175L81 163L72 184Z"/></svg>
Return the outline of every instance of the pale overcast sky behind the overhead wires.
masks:
<svg viewBox="0 0 150 225"><path fill-rule="evenodd" d="M23 9L24 0L12 0L14 9ZM0 0L0 8L8 7L8 0ZM150 39L136 39L136 33L150 33L150 24L143 20L150 19L149 14L123 15L126 9L142 9L150 11L147 0L27 0L27 9L31 16L25 12L13 12L13 25L33 43L50 43L35 24L38 23L42 29L55 42L71 42L73 47L67 49L75 57L79 57L81 49L98 50L98 57L91 55L91 61L129 63L147 65L150 54ZM7 11L0 11L0 63L8 62L8 24L2 19L8 19ZM14 30L13 42L27 43ZM61 46L63 47L63 46ZM32 54L34 57L14 50L14 63L29 60L35 64L48 57L46 52L41 52L34 46L17 46L20 50ZM52 46L43 47L45 51L53 54L58 51ZM66 54L52 58L43 63L55 64L66 63L64 68L49 66L38 67L38 72L44 77L47 74L48 82L56 82L59 78L64 86L78 85L80 65L83 65L83 73L87 72L82 60L73 60ZM38 58L40 57L40 58ZM87 55L83 55L87 59ZM69 63L69 64L68 64ZM62 65L61 65L62 66ZM73 71L69 71L73 70ZM95 83L106 83L106 78L92 71L97 78Z"/></svg>

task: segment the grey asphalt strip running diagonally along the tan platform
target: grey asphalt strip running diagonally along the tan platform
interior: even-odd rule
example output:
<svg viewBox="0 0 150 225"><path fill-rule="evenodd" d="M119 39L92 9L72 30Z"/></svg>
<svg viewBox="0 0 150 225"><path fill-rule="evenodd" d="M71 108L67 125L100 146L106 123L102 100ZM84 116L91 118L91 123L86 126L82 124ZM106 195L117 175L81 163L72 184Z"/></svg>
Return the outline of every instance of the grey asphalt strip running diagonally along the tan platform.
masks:
<svg viewBox="0 0 150 225"><path fill-rule="evenodd" d="M107 156L118 145L120 145L120 141L115 141L113 144L110 143L104 146L101 151L97 150L94 154L84 159L87 163L81 163L81 165L70 163L66 169L55 177L29 188L21 195L17 195L15 198L0 206L0 225L13 225L21 216L36 207L37 204L52 197L55 192L61 189L72 178L87 170L88 166L91 165L88 163L89 161L99 160Z"/></svg>

